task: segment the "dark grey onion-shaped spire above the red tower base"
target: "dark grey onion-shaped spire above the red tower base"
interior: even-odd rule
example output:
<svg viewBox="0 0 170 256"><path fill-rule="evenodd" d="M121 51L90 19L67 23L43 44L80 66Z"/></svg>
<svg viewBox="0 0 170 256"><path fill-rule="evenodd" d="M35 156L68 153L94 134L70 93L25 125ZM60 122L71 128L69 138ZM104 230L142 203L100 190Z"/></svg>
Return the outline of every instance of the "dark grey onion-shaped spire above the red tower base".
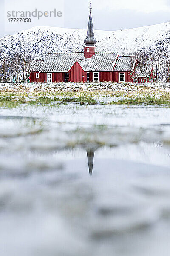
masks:
<svg viewBox="0 0 170 256"><path fill-rule="evenodd" d="M84 40L84 43L85 43L85 46L96 46L95 44L97 43L97 40L94 37L93 21L91 16L91 3L90 3L90 15L88 20L88 32Z"/></svg>

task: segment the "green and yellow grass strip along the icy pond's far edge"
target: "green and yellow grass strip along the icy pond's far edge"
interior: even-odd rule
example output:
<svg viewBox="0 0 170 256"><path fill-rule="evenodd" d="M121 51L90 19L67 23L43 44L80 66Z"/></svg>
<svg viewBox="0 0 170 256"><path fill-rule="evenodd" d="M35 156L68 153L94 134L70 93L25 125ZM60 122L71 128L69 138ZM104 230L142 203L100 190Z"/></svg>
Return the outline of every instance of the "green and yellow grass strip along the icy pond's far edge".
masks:
<svg viewBox="0 0 170 256"><path fill-rule="evenodd" d="M119 95L120 96L120 95ZM100 95L100 97L102 97ZM122 97L122 95L121 95ZM122 98L125 98L124 96ZM108 101L105 96L106 101L94 100L90 95L82 95L79 97L63 97L57 94L48 94L46 96L33 96L23 94L18 95L18 93L11 93L9 96L0 96L0 107L1 108L15 108L21 104L27 105L49 105L49 106L60 106L68 105L69 103L74 103L77 105L166 105L170 106L170 94L164 93L157 96L140 96L131 97L125 99L117 99L115 101Z"/></svg>

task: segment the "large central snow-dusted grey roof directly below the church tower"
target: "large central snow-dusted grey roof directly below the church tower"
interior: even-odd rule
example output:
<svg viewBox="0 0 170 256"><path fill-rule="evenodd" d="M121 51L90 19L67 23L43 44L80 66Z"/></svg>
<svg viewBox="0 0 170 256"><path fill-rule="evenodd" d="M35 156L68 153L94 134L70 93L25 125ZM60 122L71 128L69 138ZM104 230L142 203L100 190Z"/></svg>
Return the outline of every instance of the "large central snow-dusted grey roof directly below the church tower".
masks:
<svg viewBox="0 0 170 256"><path fill-rule="evenodd" d="M113 71L117 57L118 52L96 52L89 59L85 58L84 52L49 53L40 72L68 72L76 60L85 71ZM35 67L31 71L35 71Z"/></svg>

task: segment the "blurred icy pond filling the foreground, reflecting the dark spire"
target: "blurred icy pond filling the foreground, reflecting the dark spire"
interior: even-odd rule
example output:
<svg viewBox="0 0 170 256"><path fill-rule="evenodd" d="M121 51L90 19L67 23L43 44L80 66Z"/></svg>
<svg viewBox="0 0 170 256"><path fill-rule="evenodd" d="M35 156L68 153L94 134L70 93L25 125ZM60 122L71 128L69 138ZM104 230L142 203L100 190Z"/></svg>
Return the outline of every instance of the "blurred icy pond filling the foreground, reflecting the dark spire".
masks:
<svg viewBox="0 0 170 256"><path fill-rule="evenodd" d="M3 256L170 255L170 108L0 108L0 178Z"/></svg>

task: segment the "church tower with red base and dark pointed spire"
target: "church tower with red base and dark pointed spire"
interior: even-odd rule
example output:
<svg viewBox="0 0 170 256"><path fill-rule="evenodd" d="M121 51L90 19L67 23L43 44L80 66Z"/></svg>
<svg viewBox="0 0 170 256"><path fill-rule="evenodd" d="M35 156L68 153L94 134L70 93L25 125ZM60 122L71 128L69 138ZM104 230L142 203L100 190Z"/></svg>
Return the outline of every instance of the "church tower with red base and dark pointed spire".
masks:
<svg viewBox="0 0 170 256"><path fill-rule="evenodd" d="M84 55L85 58L91 58L95 55L96 53L96 43L97 40L94 37L94 29L93 29L93 22L92 22L92 17L91 17L91 3L90 3L90 15L89 15L89 20L88 20L88 32L87 36L84 40L85 47L84 47Z"/></svg>

